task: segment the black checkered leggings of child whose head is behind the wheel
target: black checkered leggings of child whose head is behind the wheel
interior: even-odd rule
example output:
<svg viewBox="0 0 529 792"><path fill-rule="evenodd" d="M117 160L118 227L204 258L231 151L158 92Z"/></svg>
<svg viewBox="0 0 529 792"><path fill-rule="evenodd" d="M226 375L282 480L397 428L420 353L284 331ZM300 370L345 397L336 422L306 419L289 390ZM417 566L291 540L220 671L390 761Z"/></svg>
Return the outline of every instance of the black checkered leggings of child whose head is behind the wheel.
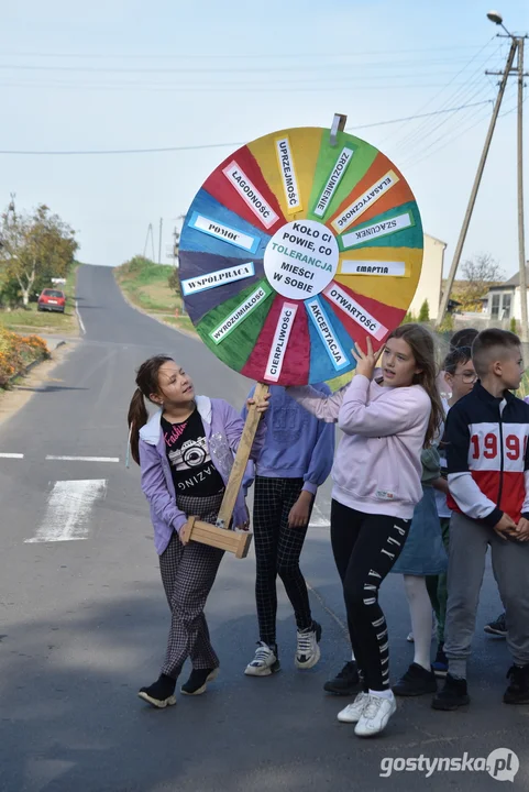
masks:
<svg viewBox="0 0 529 792"><path fill-rule="evenodd" d="M288 514L302 486L302 479L255 479L255 600L260 638L268 645L275 644L276 639L277 575L282 579L294 607L298 629L306 629L312 624L307 584L299 569L299 557L308 526L288 527Z"/></svg>

